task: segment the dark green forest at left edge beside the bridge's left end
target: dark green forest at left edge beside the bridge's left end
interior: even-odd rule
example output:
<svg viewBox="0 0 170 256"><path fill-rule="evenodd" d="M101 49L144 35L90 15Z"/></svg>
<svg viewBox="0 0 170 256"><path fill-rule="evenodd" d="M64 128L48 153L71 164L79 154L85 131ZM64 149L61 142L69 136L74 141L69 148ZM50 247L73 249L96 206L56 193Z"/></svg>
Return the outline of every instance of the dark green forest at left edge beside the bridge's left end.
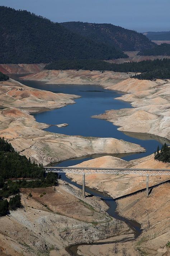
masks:
<svg viewBox="0 0 170 256"><path fill-rule="evenodd" d="M25 179L19 181L12 181L12 178L32 178L37 180L26 181ZM58 175L48 173L44 177L44 170L42 165L37 165L31 162L25 156L20 156L14 150L10 143L0 138L0 216L5 215L8 210L15 210L20 207L20 188L38 188L49 187L57 185ZM5 180L8 180L5 183ZM9 204L2 198L10 198Z"/></svg>

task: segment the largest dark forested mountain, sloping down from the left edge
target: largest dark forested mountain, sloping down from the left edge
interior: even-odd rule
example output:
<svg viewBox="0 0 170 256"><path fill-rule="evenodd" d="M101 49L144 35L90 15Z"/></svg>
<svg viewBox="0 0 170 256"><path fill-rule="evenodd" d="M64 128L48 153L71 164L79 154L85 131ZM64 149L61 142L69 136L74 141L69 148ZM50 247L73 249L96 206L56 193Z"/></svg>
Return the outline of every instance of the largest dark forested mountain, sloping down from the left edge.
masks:
<svg viewBox="0 0 170 256"><path fill-rule="evenodd" d="M59 23L0 6L0 63L49 63L63 58L114 59L121 50L69 31Z"/></svg>

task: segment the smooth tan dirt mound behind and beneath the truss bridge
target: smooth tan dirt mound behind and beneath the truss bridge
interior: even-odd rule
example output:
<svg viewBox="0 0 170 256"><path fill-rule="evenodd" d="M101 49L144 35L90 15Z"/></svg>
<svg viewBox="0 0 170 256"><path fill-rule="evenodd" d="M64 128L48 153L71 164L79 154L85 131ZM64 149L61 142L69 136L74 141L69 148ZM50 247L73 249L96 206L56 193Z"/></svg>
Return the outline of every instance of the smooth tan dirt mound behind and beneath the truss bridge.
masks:
<svg viewBox="0 0 170 256"><path fill-rule="evenodd" d="M113 156L104 156L82 162L76 167L170 169L170 164L154 160L154 154L152 154L129 162ZM67 176L80 184L82 183L82 177L79 175L67 174ZM166 175L152 176L149 179L149 185L152 186L167 179ZM146 177L140 175L90 174L86 175L86 185L106 191L113 198L116 198L146 188Z"/></svg>

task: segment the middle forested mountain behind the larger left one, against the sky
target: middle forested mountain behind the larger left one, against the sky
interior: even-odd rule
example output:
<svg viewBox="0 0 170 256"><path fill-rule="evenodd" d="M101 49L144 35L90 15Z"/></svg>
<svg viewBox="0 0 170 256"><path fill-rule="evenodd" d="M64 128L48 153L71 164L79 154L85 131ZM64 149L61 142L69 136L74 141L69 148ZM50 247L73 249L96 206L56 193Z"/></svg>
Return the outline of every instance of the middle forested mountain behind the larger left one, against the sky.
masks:
<svg viewBox="0 0 170 256"><path fill-rule="evenodd" d="M114 45L123 51L141 51L143 49L150 49L155 45L154 42L151 42L142 33L112 24L88 22L64 22L61 24L72 32L110 46Z"/></svg>

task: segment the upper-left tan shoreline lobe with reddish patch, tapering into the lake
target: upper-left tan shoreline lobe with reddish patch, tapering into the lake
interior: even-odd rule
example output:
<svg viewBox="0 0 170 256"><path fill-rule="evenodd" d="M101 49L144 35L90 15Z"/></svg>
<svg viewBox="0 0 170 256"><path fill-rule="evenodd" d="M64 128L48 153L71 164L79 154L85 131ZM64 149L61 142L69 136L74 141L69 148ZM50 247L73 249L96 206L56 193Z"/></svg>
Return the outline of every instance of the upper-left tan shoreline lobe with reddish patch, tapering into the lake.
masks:
<svg viewBox="0 0 170 256"><path fill-rule="evenodd" d="M3 108L27 108L30 112L39 109L53 109L73 104L77 95L52 93L30 88L13 79L0 83L0 106Z"/></svg>

